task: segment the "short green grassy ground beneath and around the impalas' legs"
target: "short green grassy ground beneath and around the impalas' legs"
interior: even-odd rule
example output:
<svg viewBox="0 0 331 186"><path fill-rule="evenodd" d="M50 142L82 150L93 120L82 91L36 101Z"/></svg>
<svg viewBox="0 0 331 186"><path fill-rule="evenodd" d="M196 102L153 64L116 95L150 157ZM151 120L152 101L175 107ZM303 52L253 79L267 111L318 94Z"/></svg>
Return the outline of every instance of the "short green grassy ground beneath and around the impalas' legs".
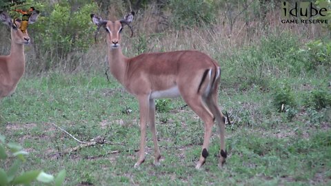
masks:
<svg viewBox="0 0 331 186"><path fill-rule="evenodd" d="M288 82L298 95L325 79ZM234 120L226 126L228 159L223 169L217 167L217 127L208 161L203 169L194 169L203 123L181 99L157 112L161 166L152 165L148 132L146 162L134 169L139 148L137 101L101 73L26 76L17 92L1 101L0 131L30 152L24 169L41 168L51 174L66 169L65 185L330 185L330 108L313 112L299 104L289 118L276 112L272 92L254 86L239 89L223 87L219 94L219 105ZM106 143L68 152L79 143L53 124L81 141L101 136ZM10 165L5 162L5 169Z"/></svg>

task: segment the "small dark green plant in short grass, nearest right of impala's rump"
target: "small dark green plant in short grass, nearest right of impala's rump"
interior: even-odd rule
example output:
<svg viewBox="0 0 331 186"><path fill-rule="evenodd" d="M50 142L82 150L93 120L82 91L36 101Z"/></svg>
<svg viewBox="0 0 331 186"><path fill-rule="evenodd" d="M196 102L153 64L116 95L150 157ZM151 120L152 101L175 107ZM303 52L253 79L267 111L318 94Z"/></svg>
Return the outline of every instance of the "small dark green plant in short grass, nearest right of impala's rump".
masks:
<svg viewBox="0 0 331 186"><path fill-rule="evenodd" d="M286 107L294 107L294 92L287 82L280 83L274 88L273 103L278 112L285 112Z"/></svg>

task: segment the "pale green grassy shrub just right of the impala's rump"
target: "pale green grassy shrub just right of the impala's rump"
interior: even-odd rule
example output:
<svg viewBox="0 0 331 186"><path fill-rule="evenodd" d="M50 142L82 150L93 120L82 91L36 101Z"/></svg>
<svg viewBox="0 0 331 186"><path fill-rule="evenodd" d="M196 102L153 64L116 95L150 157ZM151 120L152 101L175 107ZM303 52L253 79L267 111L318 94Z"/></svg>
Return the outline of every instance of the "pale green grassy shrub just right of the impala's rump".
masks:
<svg viewBox="0 0 331 186"><path fill-rule="evenodd" d="M298 76L305 71L304 56L299 50L299 39L291 33L265 36L258 44L245 46L228 57L226 68L232 72L228 79L237 79L241 90L252 85L268 90L272 79Z"/></svg>

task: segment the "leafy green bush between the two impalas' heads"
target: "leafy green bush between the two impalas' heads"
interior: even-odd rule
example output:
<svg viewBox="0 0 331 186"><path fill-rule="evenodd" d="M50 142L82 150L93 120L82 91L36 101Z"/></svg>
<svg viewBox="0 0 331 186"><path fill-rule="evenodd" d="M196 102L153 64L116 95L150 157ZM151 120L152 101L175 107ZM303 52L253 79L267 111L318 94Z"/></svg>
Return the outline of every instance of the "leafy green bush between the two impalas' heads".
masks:
<svg viewBox="0 0 331 186"><path fill-rule="evenodd" d="M70 54L86 52L90 43L94 42L92 34L95 28L90 24L90 13L97 10L97 5L86 3L75 8L76 11L72 11L74 7L68 1L60 1L53 6L39 3L39 7L43 9L41 16L31 28L32 33L38 33L34 35L37 58L40 58L41 63L46 61L46 64L40 65L44 68L40 70L49 70L59 65L74 70L79 61Z"/></svg>

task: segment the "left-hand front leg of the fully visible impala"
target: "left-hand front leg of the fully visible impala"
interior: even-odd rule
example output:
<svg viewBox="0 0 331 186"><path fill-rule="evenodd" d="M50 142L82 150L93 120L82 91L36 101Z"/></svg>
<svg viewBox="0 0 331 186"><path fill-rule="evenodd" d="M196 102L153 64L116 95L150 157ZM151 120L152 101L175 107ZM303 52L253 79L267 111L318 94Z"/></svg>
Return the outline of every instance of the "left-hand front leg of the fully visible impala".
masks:
<svg viewBox="0 0 331 186"><path fill-rule="evenodd" d="M146 143L146 123L148 120L148 111L150 107L149 96L138 96L140 110L140 149L139 159L134 167L137 168L145 161L145 143Z"/></svg>

